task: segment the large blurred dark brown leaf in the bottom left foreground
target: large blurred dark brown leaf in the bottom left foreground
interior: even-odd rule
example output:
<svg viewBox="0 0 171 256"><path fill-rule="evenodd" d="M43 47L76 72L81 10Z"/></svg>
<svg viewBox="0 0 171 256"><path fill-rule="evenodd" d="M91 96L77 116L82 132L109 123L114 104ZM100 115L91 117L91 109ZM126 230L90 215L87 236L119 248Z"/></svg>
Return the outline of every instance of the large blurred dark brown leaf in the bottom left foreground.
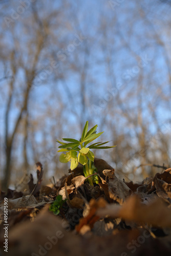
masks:
<svg viewBox="0 0 171 256"><path fill-rule="evenodd" d="M34 222L16 224L9 230L8 255L81 255L79 238L71 236L65 230L66 225L60 218L42 210Z"/></svg>

